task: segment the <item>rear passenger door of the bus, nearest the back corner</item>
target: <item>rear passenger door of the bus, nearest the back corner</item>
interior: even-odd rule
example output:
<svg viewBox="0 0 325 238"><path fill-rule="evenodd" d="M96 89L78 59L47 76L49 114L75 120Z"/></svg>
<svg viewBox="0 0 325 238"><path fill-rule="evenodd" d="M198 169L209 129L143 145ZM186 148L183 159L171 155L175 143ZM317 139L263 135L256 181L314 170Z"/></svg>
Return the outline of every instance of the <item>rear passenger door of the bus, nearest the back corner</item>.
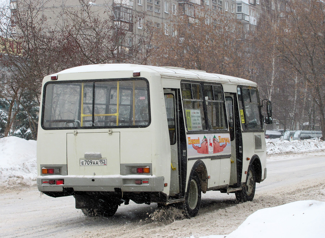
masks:
<svg viewBox="0 0 325 238"><path fill-rule="evenodd" d="M168 121L168 131L171 149L171 168L170 168L170 191L169 196L175 196L179 194L179 158L178 158L178 110L177 108L177 91L172 89L164 88L166 115Z"/></svg>

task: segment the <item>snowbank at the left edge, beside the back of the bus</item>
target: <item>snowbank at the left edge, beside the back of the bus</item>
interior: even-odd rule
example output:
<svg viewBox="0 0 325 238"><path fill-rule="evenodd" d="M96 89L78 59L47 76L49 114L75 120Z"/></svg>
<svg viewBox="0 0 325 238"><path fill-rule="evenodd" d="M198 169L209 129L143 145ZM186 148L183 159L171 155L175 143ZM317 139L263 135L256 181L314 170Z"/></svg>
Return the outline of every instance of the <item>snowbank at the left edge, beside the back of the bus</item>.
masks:
<svg viewBox="0 0 325 238"><path fill-rule="evenodd" d="M10 136L0 139L0 181L6 187L36 183L36 141Z"/></svg>

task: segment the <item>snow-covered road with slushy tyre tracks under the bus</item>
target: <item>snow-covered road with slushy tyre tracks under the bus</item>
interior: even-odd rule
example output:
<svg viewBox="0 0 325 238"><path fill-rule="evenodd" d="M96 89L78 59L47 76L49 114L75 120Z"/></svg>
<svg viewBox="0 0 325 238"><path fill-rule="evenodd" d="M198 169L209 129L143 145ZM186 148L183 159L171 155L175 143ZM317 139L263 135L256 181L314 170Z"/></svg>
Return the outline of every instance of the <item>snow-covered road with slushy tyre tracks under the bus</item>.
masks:
<svg viewBox="0 0 325 238"><path fill-rule="evenodd" d="M325 154L325 153L324 153ZM201 210L190 220L156 221L156 204L122 205L112 218L88 218L73 197L40 196L36 187L0 188L0 237L195 237L229 234L254 211L297 200L325 201L325 155L271 156L267 179L252 202L237 204L233 194L202 194ZM173 214L170 211L170 214Z"/></svg>

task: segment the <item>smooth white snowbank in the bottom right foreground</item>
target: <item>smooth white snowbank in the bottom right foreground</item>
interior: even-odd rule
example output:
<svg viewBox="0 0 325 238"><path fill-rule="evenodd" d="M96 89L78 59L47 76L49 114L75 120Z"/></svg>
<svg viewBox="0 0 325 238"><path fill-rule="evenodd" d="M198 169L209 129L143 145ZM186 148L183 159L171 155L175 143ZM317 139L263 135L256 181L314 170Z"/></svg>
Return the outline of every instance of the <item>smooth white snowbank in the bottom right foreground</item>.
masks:
<svg viewBox="0 0 325 238"><path fill-rule="evenodd" d="M255 211L229 235L200 238L305 238L324 237L325 202L296 201ZM189 238L195 238L190 236Z"/></svg>

